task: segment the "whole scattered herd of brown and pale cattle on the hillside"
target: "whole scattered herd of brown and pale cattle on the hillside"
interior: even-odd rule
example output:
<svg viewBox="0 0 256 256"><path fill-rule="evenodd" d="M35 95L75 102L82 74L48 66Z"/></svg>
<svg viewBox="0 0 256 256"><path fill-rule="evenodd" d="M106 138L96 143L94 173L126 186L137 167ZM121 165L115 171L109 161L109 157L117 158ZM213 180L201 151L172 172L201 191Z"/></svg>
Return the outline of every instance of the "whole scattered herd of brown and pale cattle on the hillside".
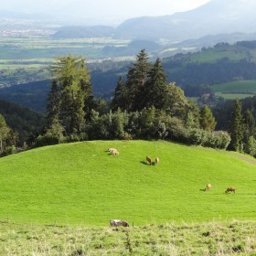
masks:
<svg viewBox="0 0 256 256"><path fill-rule="evenodd" d="M112 155L119 155L119 152L115 148L108 148L107 151L110 152ZM152 159L149 156L146 156L145 160L146 160L146 163L148 163L148 165L152 165ZM159 158L155 157L155 165L158 165L158 164L159 164ZM211 184L208 183L207 187L205 188L205 191L209 190L210 188L211 188ZM229 193L229 192L236 193L236 187L228 187L225 193ZM120 227L120 226L130 227L127 221L121 220L121 219L111 219L110 225L111 227Z"/></svg>

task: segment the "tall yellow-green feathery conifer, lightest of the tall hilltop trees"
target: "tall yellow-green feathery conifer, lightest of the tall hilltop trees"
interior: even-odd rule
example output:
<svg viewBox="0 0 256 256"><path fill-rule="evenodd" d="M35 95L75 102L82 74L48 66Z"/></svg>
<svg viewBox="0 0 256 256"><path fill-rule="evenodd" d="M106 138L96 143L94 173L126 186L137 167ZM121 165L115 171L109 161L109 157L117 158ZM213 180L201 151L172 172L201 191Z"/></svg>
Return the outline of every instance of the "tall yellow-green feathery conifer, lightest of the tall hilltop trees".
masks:
<svg viewBox="0 0 256 256"><path fill-rule="evenodd" d="M59 119L68 135L81 133L92 95L85 59L72 55L59 57L51 70L59 84Z"/></svg>

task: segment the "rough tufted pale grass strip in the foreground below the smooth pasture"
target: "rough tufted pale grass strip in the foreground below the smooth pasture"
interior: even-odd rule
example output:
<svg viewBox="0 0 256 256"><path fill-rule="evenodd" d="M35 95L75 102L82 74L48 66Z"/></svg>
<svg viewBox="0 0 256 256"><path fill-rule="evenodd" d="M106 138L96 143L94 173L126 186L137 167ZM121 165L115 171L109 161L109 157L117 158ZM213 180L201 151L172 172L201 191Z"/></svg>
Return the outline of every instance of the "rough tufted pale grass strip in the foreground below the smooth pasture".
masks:
<svg viewBox="0 0 256 256"><path fill-rule="evenodd" d="M171 255L256 253L256 222L159 224L111 229L0 224L1 255Z"/></svg>

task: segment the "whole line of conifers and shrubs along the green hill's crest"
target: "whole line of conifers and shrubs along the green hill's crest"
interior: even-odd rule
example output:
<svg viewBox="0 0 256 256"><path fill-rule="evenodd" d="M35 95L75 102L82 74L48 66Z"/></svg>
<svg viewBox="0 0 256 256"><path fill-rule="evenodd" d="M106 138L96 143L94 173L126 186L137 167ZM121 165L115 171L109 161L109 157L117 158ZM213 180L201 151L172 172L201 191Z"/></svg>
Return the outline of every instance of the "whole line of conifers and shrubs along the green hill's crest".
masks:
<svg viewBox="0 0 256 256"><path fill-rule="evenodd" d="M144 49L131 63L126 79L119 77L111 101L93 96L91 74L82 57L59 57L51 72L47 124L31 147L100 139L163 139L256 152L253 114L242 112L240 101L229 112L229 127L215 131L217 121L208 105L199 108L174 81L167 83L161 60L150 62Z"/></svg>

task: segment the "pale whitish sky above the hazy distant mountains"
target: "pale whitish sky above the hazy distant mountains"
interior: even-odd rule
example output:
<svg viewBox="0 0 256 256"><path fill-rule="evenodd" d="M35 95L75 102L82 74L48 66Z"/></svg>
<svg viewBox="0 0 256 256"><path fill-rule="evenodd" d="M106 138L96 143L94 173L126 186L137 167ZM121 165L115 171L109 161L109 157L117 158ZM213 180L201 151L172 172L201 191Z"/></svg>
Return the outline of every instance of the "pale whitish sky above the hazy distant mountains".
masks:
<svg viewBox="0 0 256 256"><path fill-rule="evenodd" d="M25 13L55 13L87 18L125 20L165 16L204 5L209 0L0 0L0 9Z"/></svg>

